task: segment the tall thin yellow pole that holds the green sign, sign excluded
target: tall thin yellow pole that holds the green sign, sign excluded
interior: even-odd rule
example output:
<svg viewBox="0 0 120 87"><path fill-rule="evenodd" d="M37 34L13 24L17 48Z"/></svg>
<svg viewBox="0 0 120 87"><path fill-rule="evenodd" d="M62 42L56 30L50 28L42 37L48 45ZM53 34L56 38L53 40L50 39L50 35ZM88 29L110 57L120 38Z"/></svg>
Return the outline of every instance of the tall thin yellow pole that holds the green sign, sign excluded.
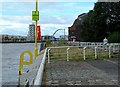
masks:
<svg viewBox="0 0 120 87"><path fill-rule="evenodd" d="M36 0L36 11L38 11L38 0ZM36 20L36 25L35 25L35 48L34 48L34 55L35 59L38 55L38 46L37 46L37 20Z"/></svg>

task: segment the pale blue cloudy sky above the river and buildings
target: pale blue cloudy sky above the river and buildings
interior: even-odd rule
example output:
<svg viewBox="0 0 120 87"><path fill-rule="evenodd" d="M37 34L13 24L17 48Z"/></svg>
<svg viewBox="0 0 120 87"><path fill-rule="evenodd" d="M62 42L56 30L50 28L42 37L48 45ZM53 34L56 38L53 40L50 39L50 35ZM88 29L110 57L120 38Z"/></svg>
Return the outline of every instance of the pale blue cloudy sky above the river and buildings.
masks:
<svg viewBox="0 0 120 87"><path fill-rule="evenodd" d="M18 2L19 1L19 2ZM35 10L35 2L32 0L3 0L0 2L0 34L27 35L29 24L32 21L32 11ZM34 0L35 1L35 0ZM65 29L68 34L70 27L78 15L87 13L94 7L95 0L77 1L45 0L39 2L39 25L42 35L52 35L57 29ZM63 35L63 31L56 33L56 37Z"/></svg>

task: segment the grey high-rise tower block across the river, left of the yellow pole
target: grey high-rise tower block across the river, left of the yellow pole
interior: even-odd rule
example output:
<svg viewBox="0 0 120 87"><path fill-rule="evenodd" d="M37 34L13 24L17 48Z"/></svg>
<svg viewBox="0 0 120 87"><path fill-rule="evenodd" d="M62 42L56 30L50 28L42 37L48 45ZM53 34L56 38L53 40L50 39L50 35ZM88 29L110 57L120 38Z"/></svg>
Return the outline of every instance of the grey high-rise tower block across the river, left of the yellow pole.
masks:
<svg viewBox="0 0 120 87"><path fill-rule="evenodd" d="M29 25L27 41L35 41L35 24L30 24Z"/></svg>

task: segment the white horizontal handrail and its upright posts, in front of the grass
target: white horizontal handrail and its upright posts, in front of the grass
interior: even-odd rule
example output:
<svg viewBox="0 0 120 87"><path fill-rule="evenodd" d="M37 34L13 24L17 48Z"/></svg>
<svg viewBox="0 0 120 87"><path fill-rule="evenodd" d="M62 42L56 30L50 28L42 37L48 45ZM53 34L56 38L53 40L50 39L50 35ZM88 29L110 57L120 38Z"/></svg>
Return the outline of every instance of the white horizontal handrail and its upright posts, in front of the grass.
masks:
<svg viewBox="0 0 120 87"><path fill-rule="evenodd" d="M119 51L119 45L117 45L118 46L118 49L116 49L117 50L117 52L120 52ZM95 59L97 59L97 49L103 49L104 48L104 50L106 51L106 50L108 50L108 54L109 54L109 58L111 58L111 49L112 49L112 52L113 52L113 50L114 50L114 52L116 51L114 48L116 48L115 47L115 45L98 45L98 46L96 46L96 45L93 45L93 46L59 46L59 47L48 47L48 63L50 63L50 50L51 49L57 49L57 48L65 48L66 49L66 60L67 61L69 61L69 52L68 52L68 50L69 49L71 49L71 48L82 48L83 49L83 58L84 58L84 60L86 60L86 49L87 48L93 48L94 49L94 57L95 57Z"/></svg>

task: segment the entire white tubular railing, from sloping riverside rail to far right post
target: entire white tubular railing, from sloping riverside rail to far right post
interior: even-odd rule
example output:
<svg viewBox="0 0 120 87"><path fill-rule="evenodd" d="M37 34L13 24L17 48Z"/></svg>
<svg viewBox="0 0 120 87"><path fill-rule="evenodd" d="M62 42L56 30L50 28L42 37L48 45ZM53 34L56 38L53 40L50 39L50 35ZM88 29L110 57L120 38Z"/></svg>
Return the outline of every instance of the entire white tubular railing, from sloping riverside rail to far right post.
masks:
<svg viewBox="0 0 120 87"><path fill-rule="evenodd" d="M47 55L47 52L49 53L50 49L53 49L53 48L66 48L66 52L68 53L68 50L70 48L83 48L84 50L84 60L86 59L85 58L85 49L87 47L96 47L95 48L95 51L97 49L97 47L99 47L100 45L96 46L96 45L91 45L91 46L58 46L58 47L47 47L45 50L44 50L44 55L42 57L42 60L41 60L41 63L39 65L39 68L38 68L38 71L37 71L37 75L34 79L34 82L33 82L33 85L39 85L41 86L42 85L42 78L43 78L43 72L44 72L44 66L45 66L45 60L46 60L46 55ZM104 46L104 45L101 45L101 46ZM105 45L105 46L109 46L109 57L111 56L111 52L110 52L110 49L111 49L111 45ZM49 55L48 55L49 56ZM95 52L95 58L97 57L97 53ZM69 55L67 55L67 61L69 61ZM50 62L50 60L49 60Z"/></svg>

